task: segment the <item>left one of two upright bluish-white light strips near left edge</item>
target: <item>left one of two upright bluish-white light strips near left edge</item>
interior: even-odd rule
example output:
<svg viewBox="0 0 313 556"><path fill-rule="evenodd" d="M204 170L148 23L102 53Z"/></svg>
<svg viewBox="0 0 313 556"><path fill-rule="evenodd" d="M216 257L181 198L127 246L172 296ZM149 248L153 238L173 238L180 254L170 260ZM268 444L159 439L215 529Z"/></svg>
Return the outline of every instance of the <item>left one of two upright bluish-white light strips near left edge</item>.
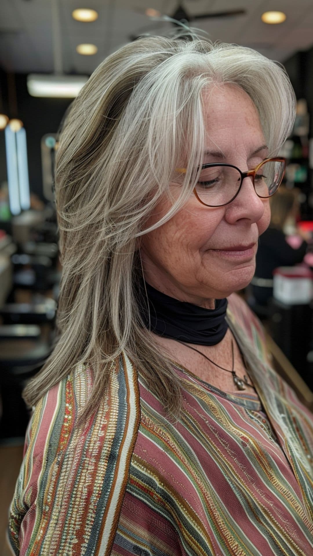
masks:
<svg viewBox="0 0 313 556"><path fill-rule="evenodd" d="M7 126L4 130L6 137L6 155L7 155L7 175L9 190L9 207L13 216L21 212L21 204L19 202L18 191L18 167L17 167L17 150L15 132Z"/></svg>

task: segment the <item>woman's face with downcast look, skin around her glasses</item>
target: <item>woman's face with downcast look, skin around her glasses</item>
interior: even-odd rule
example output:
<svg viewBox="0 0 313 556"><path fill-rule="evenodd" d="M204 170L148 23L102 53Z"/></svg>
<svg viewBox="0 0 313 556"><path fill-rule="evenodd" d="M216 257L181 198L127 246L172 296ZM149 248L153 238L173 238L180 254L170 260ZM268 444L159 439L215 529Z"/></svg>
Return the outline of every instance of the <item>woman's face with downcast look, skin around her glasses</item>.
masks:
<svg viewBox="0 0 313 556"><path fill-rule="evenodd" d="M233 85L213 87L203 101L209 151L203 163L226 162L244 172L267 157L260 119L246 92ZM147 227L169 209L164 196ZM258 236L269 222L268 199L256 195L251 178L244 179L237 197L222 207L204 206L192 193L172 219L141 237L145 280L176 299L212 307L213 299L250 282Z"/></svg>

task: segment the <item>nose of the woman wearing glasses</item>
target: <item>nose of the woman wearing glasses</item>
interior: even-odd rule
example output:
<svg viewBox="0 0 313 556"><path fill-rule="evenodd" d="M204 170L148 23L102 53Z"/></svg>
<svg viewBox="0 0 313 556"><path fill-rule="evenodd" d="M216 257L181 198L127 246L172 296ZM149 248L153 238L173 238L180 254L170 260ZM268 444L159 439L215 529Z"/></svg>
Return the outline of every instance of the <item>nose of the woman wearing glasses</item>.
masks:
<svg viewBox="0 0 313 556"><path fill-rule="evenodd" d="M241 189L234 200L226 205L226 219L234 224L237 220L247 219L257 222L263 216L267 199L258 197L253 186L252 176L246 176L242 180Z"/></svg>

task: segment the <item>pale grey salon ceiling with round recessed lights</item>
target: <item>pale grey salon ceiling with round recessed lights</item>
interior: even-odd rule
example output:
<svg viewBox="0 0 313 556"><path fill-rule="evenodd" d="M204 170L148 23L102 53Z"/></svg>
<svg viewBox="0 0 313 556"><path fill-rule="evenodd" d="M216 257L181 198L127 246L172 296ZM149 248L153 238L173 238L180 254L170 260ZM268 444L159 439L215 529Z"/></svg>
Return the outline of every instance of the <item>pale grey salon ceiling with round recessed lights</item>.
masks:
<svg viewBox="0 0 313 556"><path fill-rule="evenodd" d="M60 15L57 58L53 57L52 2L58 2ZM182 4L190 15L245 8L244 16L201 19L190 25L206 31L213 41L255 48L280 62L313 45L312 0L186 0ZM108 54L129 42L131 34L140 34L146 27L151 28L151 34L167 34L173 29L169 23L153 22L134 12L134 8L150 7L172 15L177 6L175 0L1 0L0 67L8 72L49 73L58 59L65 73L88 75ZM74 21L72 11L82 7L96 9L99 18L92 23ZM285 12L286 21L280 25L263 23L261 14L270 9ZM77 44L82 42L96 44L97 54L76 53Z"/></svg>

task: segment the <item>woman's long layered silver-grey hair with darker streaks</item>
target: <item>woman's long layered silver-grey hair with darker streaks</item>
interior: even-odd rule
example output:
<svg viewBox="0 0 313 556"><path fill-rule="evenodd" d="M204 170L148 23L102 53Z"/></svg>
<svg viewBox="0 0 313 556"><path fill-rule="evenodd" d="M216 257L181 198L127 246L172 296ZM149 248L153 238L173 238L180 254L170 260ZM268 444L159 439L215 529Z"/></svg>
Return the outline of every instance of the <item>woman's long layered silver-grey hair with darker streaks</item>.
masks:
<svg viewBox="0 0 313 556"><path fill-rule="evenodd" d="M295 95L281 64L250 48L207 39L145 37L107 57L63 126L55 187L62 277L58 337L23 397L35 405L77 364L93 389L77 426L99 406L111 365L124 351L164 410L179 415L180 381L141 326L139 237L187 200L205 150L202 91L232 83L250 95L272 155L289 135ZM177 165L187 168L168 214L145 228Z"/></svg>

